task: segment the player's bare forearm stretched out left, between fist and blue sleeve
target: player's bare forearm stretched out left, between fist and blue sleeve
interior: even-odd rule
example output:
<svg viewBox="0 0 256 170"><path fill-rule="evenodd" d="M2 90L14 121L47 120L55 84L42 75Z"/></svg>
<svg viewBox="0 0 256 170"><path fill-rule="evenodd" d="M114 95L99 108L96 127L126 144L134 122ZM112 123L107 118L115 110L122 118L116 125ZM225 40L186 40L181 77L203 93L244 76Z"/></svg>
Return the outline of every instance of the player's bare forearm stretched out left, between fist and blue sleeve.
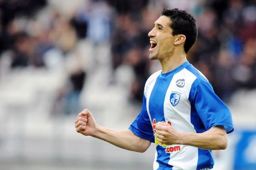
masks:
<svg viewBox="0 0 256 170"><path fill-rule="evenodd" d="M145 152L150 142L134 135L131 130L112 130L107 127L96 125L96 131L92 135L117 147L136 152Z"/></svg>

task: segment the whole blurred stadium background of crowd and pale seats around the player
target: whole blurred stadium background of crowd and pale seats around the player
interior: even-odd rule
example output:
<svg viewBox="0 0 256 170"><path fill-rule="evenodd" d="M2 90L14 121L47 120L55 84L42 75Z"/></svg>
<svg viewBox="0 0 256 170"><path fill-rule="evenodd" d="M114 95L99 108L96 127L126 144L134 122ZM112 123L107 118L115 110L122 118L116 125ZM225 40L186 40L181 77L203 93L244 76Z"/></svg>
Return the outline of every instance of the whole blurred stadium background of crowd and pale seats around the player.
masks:
<svg viewBox="0 0 256 170"><path fill-rule="evenodd" d="M160 69L148 31L163 8L198 22L189 61L233 114L214 170L256 170L255 0L0 0L0 170L150 170L145 153L76 133L88 108L127 129L143 85Z"/></svg>

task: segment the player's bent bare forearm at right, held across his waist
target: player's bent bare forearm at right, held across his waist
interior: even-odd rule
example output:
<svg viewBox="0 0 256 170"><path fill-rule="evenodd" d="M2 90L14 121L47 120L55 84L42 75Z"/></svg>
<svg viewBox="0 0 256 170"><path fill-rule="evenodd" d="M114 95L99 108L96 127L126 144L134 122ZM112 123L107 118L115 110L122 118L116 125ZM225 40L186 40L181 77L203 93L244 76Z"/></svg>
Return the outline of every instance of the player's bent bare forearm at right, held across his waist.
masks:
<svg viewBox="0 0 256 170"><path fill-rule="evenodd" d="M182 133L180 144L199 147L205 150L227 148L227 134L224 127L214 127L204 133Z"/></svg>

